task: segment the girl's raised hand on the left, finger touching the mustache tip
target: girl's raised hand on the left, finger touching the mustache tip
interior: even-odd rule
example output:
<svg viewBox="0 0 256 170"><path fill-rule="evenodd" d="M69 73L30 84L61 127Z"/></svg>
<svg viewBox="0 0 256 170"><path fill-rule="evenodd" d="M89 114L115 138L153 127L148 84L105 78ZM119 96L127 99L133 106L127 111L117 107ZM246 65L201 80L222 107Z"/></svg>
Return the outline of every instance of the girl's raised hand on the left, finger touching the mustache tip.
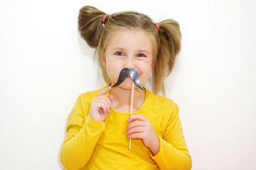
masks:
<svg viewBox="0 0 256 170"><path fill-rule="evenodd" d="M112 108L113 96L106 97L105 94L111 90L111 86L100 91L100 94L92 100L90 105L90 117L97 121L104 121Z"/></svg>

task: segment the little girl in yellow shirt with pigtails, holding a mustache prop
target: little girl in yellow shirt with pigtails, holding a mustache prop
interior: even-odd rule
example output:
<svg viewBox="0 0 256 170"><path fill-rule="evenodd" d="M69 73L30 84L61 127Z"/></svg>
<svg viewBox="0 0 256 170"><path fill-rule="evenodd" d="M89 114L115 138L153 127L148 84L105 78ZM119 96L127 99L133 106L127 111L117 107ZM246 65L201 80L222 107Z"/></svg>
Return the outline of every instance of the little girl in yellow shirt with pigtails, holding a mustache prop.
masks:
<svg viewBox="0 0 256 170"><path fill-rule="evenodd" d="M191 169L178 106L164 92L164 78L181 46L178 23L153 23L142 13L107 15L92 6L80 9L79 30L110 79L97 91L81 94L71 111L60 152L66 169ZM122 69L135 69L139 83L152 74L154 93L132 79L112 87ZM144 88L145 89L145 88ZM132 147L129 149L129 139Z"/></svg>

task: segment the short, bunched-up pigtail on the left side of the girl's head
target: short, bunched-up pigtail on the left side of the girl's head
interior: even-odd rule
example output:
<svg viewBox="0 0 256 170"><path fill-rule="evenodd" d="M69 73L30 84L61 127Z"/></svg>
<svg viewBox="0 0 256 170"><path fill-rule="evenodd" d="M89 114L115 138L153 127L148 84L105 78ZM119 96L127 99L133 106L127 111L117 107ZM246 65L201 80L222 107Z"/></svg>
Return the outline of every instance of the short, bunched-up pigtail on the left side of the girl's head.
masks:
<svg viewBox="0 0 256 170"><path fill-rule="evenodd" d="M102 18L104 16L104 12L93 6L83 6L80 8L78 29L80 30L80 35L90 47L97 47L99 43L104 29L104 26L102 26Z"/></svg>

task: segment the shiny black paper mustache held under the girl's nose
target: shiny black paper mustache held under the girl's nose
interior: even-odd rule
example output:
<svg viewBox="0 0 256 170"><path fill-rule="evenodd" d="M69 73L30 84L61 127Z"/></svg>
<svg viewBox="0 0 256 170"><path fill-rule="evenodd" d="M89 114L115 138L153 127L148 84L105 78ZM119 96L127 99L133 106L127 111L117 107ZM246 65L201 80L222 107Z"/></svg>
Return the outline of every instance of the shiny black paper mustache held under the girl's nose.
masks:
<svg viewBox="0 0 256 170"><path fill-rule="evenodd" d="M137 72L136 69L127 69L124 68L121 70L117 83L114 84L112 87L114 86L118 86L119 84L122 84L122 82L128 77L130 76L132 78L132 81L134 81L134 84L139 87L139 89L145 90L143 89L143 87L139 84L139 74Z"/></svg>

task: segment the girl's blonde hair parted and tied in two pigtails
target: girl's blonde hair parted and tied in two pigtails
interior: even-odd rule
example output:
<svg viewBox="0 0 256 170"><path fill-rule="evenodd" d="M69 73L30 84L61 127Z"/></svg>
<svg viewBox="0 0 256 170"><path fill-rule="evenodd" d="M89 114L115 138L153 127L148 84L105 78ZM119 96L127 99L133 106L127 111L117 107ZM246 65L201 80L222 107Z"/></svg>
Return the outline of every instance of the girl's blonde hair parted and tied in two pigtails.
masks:
<svg viewBox="0 0 256 170"><path fill-rule="evenodd" d="M93 6L83 6L78 16L78 29L87 45L96 48L95 55L100 57L105 51L110 33L116 30L143 30L151 35L155 43L154 69L152 72L153 92L162 91L164 94L164 79L174 67L176 55L181 49L181 31L178 23L168 19L159 23L159 30L155 23L143 13L123 11L113 13L102 19L106 13Z"/></svg>

